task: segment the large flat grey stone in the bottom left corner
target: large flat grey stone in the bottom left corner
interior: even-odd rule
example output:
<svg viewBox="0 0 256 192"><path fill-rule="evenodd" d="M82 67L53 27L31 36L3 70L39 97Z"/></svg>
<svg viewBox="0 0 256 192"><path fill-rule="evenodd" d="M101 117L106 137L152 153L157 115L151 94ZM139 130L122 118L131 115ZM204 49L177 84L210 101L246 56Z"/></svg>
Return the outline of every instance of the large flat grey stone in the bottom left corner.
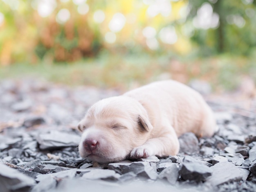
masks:
<svg viewBox="0 0 256 192"><path fill-rule="evenodd" d="M0 163L1 191L29 190L35 184L34 179L19 171Z"/></svg>

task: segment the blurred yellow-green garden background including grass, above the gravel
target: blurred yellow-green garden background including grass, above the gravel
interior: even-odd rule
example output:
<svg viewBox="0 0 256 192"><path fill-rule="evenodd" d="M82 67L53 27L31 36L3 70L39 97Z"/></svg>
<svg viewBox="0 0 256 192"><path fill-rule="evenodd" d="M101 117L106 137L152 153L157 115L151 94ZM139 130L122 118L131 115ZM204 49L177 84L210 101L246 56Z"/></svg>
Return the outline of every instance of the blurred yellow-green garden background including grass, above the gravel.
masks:
<svg viewBox="0 0 256 192"><path fill-rule="evenodd" d="M0 79L255 91L255 59L254 0L0 0Z"/></svg>

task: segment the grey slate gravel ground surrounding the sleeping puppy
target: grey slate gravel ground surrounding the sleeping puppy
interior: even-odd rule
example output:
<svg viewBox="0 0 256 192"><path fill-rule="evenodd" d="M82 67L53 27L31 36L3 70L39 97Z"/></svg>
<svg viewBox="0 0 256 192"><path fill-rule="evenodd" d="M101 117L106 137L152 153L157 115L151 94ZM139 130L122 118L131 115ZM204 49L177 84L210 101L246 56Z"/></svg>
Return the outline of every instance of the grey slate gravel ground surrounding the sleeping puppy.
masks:
<svg viewBox="0 0 256 192"><path fill-rule="evenodd" d="M184 134L177 156L107 165L81 159L77 123L92 103L118 94L0 82L0 191L256 191L256 114L227 100L209 101L219 132L199 140Z"/></svg>

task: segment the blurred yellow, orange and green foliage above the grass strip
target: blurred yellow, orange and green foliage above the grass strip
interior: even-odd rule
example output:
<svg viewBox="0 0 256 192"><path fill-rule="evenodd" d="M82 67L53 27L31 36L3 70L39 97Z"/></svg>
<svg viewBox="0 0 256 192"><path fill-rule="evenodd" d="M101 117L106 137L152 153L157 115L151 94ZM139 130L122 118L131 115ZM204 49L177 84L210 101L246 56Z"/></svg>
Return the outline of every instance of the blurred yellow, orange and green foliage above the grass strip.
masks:
<svg viewBox="0 0 256 192"><path fill-rule="evenodd" d="M0 63L111 54L253 56L254 0L0 0Z"/></svg>

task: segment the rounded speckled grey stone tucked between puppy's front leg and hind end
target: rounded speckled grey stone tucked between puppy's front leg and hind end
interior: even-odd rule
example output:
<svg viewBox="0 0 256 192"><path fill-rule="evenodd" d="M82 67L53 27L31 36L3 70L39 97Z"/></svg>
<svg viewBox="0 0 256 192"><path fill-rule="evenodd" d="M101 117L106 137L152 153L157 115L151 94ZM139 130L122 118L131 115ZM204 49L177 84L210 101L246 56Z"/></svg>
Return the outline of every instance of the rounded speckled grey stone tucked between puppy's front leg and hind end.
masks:
<svg viewBox="0 0 256 192"><path fill-rule="evenodd" d="M179 137L180 152L184 154L195 154L199 152L198 138L189 132Z"/></svg>

